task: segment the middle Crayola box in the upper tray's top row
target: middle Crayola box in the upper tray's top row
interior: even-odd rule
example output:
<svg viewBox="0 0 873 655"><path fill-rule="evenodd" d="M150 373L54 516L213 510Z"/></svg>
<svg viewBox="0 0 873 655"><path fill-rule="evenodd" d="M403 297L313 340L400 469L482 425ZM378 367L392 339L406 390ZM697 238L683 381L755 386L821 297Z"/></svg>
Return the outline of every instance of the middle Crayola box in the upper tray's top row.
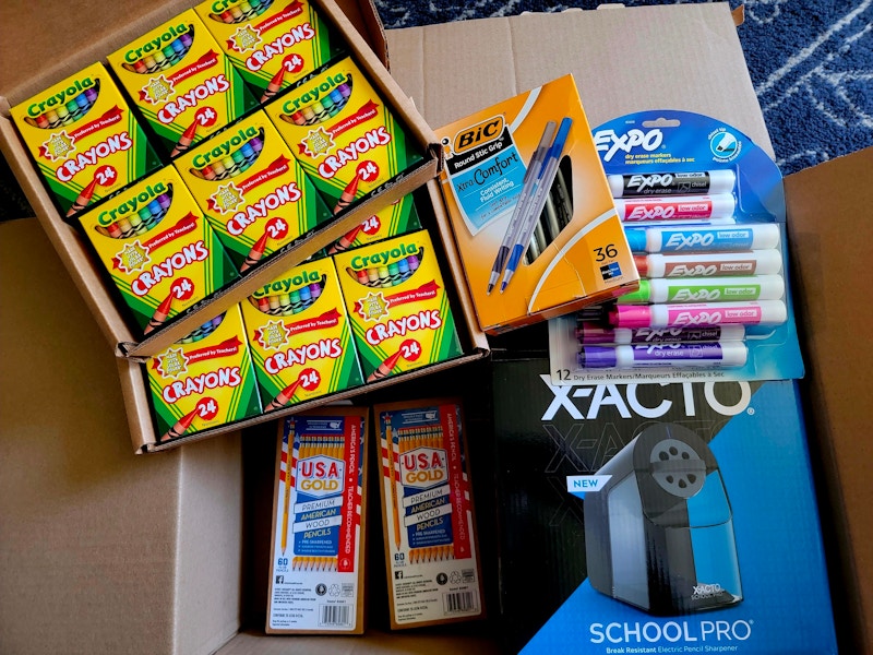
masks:
<svg viewBox="0 0 873 655"><path fill-rule="evenodd" d="M258 106L192 9L116 50L107 60L170 157Z"/></svg>

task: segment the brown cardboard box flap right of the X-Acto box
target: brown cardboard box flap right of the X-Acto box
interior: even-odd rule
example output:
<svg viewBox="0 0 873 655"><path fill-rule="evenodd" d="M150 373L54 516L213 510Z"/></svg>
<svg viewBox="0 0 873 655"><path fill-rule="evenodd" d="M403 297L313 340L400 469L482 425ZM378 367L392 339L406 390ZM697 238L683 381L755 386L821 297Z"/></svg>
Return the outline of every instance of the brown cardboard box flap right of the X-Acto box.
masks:
<svg viewBox="0 0 873 655"><path fill-rule="evenodd" d="M810 439L828 478L826 522L837 524L842 583L857 647L873 644L873 148L786 178L797 314L805 342ZM805 301L804 301L805 300Z"/></svg>

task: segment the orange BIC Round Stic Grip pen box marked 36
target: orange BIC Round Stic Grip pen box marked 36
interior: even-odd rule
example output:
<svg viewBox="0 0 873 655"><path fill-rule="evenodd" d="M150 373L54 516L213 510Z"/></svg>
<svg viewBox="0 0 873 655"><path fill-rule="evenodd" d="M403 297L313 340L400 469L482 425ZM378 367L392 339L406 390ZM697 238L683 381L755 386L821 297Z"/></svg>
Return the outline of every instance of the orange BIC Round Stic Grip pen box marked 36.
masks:
<svg viewBox="0 0 873 655"><path fill-rule="evenodd" d="M637 288L572 75L436 130L449 218L486 333Z"/></svg>

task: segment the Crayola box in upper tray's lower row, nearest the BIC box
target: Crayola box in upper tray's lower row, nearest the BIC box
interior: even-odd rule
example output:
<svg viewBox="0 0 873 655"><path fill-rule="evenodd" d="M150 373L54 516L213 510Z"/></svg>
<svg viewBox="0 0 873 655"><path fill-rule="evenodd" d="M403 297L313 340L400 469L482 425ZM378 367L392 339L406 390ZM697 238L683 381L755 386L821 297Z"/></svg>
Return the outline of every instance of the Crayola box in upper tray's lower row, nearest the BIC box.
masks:
<svg viewBox="0 0 873 655"><path fill-rule="evenodd" d="M334 214L423 159L350 57L264 110Z"/></svg>

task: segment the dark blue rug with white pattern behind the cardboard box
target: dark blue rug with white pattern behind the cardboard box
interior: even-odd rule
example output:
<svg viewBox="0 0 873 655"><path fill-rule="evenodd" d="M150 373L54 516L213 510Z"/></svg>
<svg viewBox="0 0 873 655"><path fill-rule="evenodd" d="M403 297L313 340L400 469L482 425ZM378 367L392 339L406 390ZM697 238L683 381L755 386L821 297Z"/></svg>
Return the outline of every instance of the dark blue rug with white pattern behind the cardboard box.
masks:
<svg viewBox="0 0 873 655"><path fill-rule="evenodd" d="M386 28L601 3L375 0ZM680 3L623 1L627 7ZM730 0L731 9L741 3L740 41L782 174L873 144L873 0Z"/></svg>

